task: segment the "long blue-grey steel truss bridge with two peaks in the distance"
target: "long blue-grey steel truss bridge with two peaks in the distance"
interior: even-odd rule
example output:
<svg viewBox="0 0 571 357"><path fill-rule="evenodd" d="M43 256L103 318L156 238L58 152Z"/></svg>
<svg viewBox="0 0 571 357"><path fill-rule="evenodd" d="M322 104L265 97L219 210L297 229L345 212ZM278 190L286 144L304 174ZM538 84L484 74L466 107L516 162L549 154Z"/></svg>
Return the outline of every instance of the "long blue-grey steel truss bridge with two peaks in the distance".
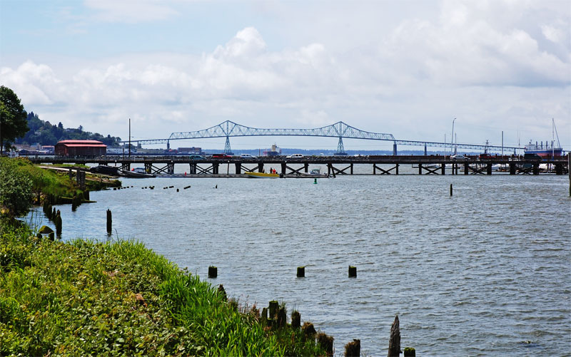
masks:
<svg viewBox="0 0 571 357"><path fill-rule="evenodd" d="M264 128L251 128L248 126L234 123L233 121L226 120L223 123L214 125L211 128L186 131L180 133L171 133L166 139L150 139L150 140L130 140L129 142L122 143L136 143L136 144L166 144L170 148L171 140L188 140L188 139L203 139L203 138L226 138L226 145L224 152L231 152L230 138L240 136L319 136L325 138L338 138L337 151L339 153L345 152L343 148L343 138L347 139L364 139L364 140L383 140L393 142L393 155L397 154L397 145L411 145L411 146L424 146L426 148L457 148L457 149L473 149L473 150L522 150L519 147L513 146L497 146L497 145L475 145L475 144L459 144L459 143L438 143L431 141L415 141L415 140L398 140L395 139L393 134L385 133L372 133L370 131L360 130L353 126L347 125L339 121L332 125L327 125L321 128L314 129L264 129Z"/></svg>

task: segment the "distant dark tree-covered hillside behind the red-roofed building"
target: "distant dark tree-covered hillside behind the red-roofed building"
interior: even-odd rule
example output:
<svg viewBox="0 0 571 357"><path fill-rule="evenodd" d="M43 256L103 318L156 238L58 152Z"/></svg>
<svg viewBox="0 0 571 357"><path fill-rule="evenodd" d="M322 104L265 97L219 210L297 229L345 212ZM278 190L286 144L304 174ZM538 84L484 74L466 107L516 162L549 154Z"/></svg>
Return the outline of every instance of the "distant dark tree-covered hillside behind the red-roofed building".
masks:
<svg viewBox="0 0 571 357"><path fill-rule="evenodd" d="M91 133L84 131L83 127L79 128L64 128L64 125L51 124L49 121L44 121L34 113L28 113L28 128L30 129L24 138L16 140L16 144L33 145L39 143L41 145L56 145L60 140L99 140L107 146L118 146L118 141L121 138L111 135L103 136L99 133Z"/></svg>

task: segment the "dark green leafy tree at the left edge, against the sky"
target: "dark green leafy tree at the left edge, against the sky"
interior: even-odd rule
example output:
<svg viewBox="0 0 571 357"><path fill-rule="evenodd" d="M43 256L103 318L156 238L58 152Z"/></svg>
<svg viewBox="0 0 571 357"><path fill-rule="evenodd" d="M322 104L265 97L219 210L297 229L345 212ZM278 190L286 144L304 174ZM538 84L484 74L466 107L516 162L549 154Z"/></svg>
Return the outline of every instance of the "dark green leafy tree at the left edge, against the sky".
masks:
<svg viewBox="0 0 571 357"><path fill-rule="evenodd" d="M7 151L10 144L27 131L26 110L20 98L10 88L0 86L0 152L2 148Z"/></svg>

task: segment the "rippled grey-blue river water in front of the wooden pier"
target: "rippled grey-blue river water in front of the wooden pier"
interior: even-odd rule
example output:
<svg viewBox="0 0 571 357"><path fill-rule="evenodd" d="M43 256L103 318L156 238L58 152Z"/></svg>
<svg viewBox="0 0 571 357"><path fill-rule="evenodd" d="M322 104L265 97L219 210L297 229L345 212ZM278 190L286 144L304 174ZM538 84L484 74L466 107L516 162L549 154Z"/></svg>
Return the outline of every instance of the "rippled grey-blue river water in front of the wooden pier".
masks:
<svg viewBox="0 0 571 357"><path fill-rule="evenodd" d="M398 315L401 346L418 356L571 356L567 176L122 182L133 188L58 207L63 239L108 239L111 209L112 239L144 242L241 304L284 301L338 355L359 338L362 353L386 356Z"/></svg>

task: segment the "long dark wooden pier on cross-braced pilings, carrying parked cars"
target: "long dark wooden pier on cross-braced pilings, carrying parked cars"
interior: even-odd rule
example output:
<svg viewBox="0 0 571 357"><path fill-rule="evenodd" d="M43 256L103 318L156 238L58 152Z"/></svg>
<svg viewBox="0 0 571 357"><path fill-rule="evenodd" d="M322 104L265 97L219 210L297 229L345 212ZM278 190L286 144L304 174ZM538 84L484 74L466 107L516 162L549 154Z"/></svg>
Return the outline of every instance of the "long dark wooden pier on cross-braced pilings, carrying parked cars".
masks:
<svg viewBox="0 0 571 357"><path fill-rule="evenodd" d="M119 170L131 170L131 167L144 167L146 172L154 175L184 176L175 174L175 165L186 166L183 170L188 177L243 177L243 172L265 172L275 169L284 177L305 176L309 165L325 165L330 176L355 175L355 165L372 168L365 175L399 175L401 165L418 168L418 175L492 175L493 165L501 165L502 171L509 175L540 175L540 164L552 165L552 173L563 175L569 171L567 156L553 157L545 161L540 158L524 158L518 156L495 156L480 158L468 156L463 160L455 160L441 155L369 155L369 156L305 156L289 158L285 156L211 158L192 160L183 156L105 156L105 157L28 157L36 164L77 164L77 165L110 165ZM381 166L382 165L382 166ZM226 170L221 167L226 166ZM229 174L231 168L235 172ZM363 170L359 170L363 172ZM402 170L401 170L402 171ZM179 170L180 172L180 170ZM401 173L402 174L402 173ZM360 173L363 175L363 173Z"/></svg>

